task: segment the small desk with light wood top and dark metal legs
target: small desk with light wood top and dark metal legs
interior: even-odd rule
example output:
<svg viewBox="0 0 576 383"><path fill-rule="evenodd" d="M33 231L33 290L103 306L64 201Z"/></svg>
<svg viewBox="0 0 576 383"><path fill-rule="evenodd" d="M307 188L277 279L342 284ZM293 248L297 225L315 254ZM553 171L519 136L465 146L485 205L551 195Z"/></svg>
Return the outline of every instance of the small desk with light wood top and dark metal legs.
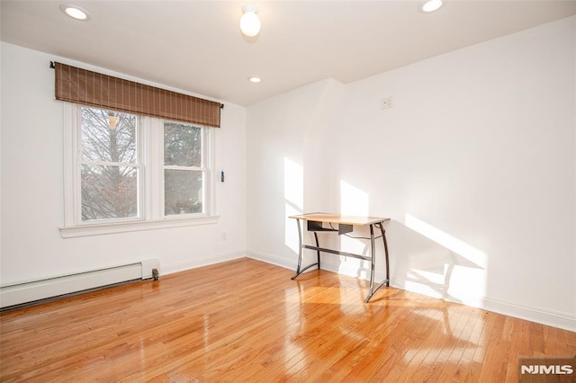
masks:
<svg viewBox="0 0 576 383"><path fill-rule="evenodd" d="M365 261L370 261L370 290L368 291L368 295L364 299L365 302L370 301L370 298L374 295L376 290L380 289L383 285L389 286L390 285L390 262L388 259L388 244L386 242L386 231L384 230L383 223L390 218L377 218L377 217L352 217L352 216L341 216L339 214L331 214L331 213L309 213L309 214L302 214L297 216L290 216L290 218L296 219L296 224L298 225L298 239L300 241L299 252L298 252L298 268L296 269L296 274L292 277L292 279L296 279L302 272L310 269L311 267L318 266L320 269L320 252L329 253L329 254L338 254L338 255L345 255L354 258L359 258ZM302 225L301 225L302 221ZM307 224L308 231L314 233L314 239L316 240L316 245L305 245L304 244L304 233L302 230L303 223ZM323 227L322 223L329 224L329 227ZM333 227L332 225L338 225L338 228ZM370 227L370 255L365 256L361 254L352 254L347 252L341 252L339 250L328 249L325 247L320 247L318 241L318 232L338 232L339 235L346 235L354 230L355 226L359 227ZM386 262L386 279L382 281L376 288L374 289L374 260L376 257L375 254L375 246L374 246L374 227L380 229L382 233L382 239L384 244L384 258ZM316 250L317 253L317 262L309 264L308 266L302 268L302 253L304 249Z"/></svg>

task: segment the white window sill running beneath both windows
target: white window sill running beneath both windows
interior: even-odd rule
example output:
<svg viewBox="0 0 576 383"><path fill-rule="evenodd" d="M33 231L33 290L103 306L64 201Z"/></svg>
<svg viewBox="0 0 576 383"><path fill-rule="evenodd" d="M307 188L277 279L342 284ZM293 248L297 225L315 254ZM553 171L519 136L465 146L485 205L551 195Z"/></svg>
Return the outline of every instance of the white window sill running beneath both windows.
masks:
<svg viewBox="0 0 576 383"><path fill-rule="evenodd" d="M148 221L117 222L106 224L59 227L60 236L75 238L77 236L102 236L105 234L126 233L130 231L157 230L160 228L211 225L218 222L220 216L196 218L156 219Z"/></svg>

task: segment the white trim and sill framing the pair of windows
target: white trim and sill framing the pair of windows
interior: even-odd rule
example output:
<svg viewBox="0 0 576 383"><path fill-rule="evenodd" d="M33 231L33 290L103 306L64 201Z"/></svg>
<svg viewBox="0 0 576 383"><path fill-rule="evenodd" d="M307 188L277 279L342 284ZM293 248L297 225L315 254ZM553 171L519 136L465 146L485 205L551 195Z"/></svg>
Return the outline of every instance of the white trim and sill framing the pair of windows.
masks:
<svg viewBox="0 0 576 383"><path fill-rule="evenodd" d="M164 217L164 176L163 176L163 146L155 145L163 139L163 120L140 117L139 150L140 156L140 206L138 218L115 219L113 221L82 222L80 216L80 191L77 180L76 161L80 153L79 135L79 108L70 102L63 104L63 159L64 159L64 226L59 227L63 238L77 236L100 236L130 231L154 230L170 227L187 227L197 225L215 224L220 216L216 211L216 184L214 176L215 166L215 139L211 129L205 129L205 147L209 147L209 156L206 158L208 171L204 183L208 186L205 195L207 204L206 213L186 214ZM144 129L147 130L144 134ZM152 135L155 135L152 137ZM204 147L202 147L203 149ZM146 170L144 170L146 169ZM206 186L204 186L206 187Z"/></svg>

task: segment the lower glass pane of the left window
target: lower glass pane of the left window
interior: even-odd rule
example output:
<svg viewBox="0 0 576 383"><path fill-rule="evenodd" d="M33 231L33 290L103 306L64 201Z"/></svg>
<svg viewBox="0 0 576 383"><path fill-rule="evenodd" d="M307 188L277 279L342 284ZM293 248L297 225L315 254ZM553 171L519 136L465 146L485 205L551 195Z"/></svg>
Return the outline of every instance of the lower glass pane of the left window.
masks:
<svg viewBox="0 0 576 383"><path fill-rule="evenodd" d="M138 170L82 165L82 220L138 217Z"/></svg>

